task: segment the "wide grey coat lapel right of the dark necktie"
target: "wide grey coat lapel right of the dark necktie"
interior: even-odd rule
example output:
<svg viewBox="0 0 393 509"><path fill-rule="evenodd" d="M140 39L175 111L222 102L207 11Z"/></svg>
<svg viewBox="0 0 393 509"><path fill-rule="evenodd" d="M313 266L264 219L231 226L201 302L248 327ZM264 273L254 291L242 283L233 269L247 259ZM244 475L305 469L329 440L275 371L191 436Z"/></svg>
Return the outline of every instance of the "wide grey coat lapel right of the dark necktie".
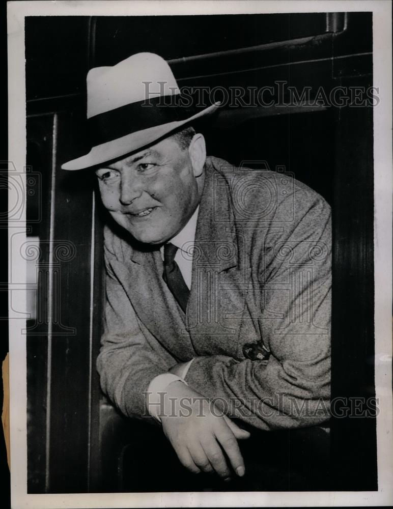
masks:
<svg viewBox="0 0 393 509"><path fill-rule="evenodd" d="M249 270L236 235L230 182L207 166L195 234L186 327L198 355L239 355Z"/></svg>

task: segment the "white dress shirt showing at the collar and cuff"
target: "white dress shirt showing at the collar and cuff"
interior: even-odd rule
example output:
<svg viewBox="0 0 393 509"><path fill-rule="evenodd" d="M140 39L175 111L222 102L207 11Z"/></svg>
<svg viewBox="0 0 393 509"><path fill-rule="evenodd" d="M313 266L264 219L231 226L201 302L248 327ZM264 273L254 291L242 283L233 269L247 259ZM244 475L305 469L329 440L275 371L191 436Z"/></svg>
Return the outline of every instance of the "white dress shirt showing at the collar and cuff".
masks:
<svg viewBox="0 0 393 509"><path fill-rule="evenodd" d="M196 221L198 221L199 206L188 220L185 227L175 235L168 242L178 247L175 255L175 262L178 264L180 272L183 276L184 282L191 289L191 274L192 274L192 251L195 241L195 230ZM164 246L161 246L161 257L164 259ZM159 408L158 403L160 402L159 392L165 392L166 387L171 383L180 380L185 382L184 378L187 374L188 368L193 359L191 359L184 366L181 376L173 375L172 373L162 373L158 375L149 384L149 413L155 417L158 421L161 419L158 417L157 409Z"/></svg>

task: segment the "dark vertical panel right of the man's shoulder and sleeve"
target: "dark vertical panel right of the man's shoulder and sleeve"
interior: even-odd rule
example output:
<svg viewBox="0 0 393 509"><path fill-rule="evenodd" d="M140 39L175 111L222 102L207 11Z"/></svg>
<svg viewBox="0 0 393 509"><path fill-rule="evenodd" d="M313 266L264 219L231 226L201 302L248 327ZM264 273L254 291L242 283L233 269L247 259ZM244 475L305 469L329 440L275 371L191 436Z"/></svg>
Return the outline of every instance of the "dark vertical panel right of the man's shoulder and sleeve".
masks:
<svg viewBox="0 0 393 509"><path fill-rule="evenodd" d="M340 84L368 87L371 80ZM363 398L359 409L367 410L375 396L373 108L342 108L336 121L332 398L344 398L352 415L332 422L333 487L367 491L377 489L376 423L373 416L354 416L351 398Z"/></svg>

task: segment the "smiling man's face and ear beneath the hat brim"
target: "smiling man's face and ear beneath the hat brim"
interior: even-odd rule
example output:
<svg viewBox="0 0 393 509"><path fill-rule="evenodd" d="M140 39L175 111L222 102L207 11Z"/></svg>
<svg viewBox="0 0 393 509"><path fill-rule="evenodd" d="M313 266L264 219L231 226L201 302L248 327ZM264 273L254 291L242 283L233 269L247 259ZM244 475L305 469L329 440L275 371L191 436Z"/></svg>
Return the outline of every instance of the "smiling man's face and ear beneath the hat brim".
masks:
<svg viewBox="0 0 393 509"><path fill-rule="evenodd" d="M160 244L175 236L198 206L205 144L196 134L188 149L175 139L101 167L101 198L110 215L136 240Z"/></svg>

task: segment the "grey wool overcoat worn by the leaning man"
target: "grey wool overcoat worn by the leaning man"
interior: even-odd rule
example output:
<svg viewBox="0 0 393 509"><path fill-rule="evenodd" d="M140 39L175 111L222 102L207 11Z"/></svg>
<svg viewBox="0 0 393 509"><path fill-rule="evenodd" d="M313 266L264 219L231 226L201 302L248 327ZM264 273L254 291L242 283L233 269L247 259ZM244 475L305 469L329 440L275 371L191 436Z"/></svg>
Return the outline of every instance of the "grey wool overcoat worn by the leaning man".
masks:
<svg viewBox="0 0 393 509"><path fill-rule="evenodd" d="M331 221L326 201L286 172L205 164L184 314L159 246L105 227L101 386L147 415L151 380L193 359L186 382L262 430L329 418Z"/></svg>

